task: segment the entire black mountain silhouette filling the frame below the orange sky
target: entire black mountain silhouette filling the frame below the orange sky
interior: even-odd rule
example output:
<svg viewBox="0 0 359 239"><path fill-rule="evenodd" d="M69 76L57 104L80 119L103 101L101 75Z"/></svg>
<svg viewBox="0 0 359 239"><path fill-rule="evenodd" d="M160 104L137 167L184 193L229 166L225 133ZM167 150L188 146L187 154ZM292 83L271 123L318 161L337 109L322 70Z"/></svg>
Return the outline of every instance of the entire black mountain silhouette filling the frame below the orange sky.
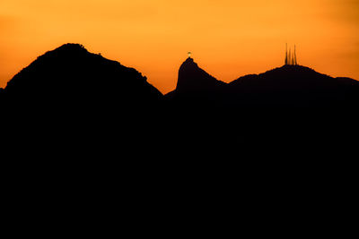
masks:
<svg viewBox="0 0 359 239"><path fill-rule="evenodd" d="M15 206L4 205L15 218L27 215L26 224L39 216L59 225L51 235L64 222L92 232L88 226L118 217L147 226L163 218L154 226L161 231L173 226L169 215L197 226L193 214L228 223L244 215L251 232L279 227L297 235L303 222L323 222L312 212L332 222L333 205L352 211L356 90L353 80L300 66L227 84L189 59L178 89L162 97L135 69L65 45L0 91L0 156L10 189L3 194Z"/></svg>

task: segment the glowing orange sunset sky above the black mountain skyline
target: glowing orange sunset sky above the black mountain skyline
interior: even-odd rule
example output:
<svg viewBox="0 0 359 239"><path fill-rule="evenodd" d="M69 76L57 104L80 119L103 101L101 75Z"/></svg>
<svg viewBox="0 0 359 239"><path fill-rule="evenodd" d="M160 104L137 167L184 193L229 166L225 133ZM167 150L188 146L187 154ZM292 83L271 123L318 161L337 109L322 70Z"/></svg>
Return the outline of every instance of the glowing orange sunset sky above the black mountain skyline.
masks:
<svg viewBox="0 0 359 239"><path fill-rule="evenodd" d="M166 93L187 52L222 81L284 64L359 80L359 0L0 0L0 87L38 55L81 43Z"/></svg>

